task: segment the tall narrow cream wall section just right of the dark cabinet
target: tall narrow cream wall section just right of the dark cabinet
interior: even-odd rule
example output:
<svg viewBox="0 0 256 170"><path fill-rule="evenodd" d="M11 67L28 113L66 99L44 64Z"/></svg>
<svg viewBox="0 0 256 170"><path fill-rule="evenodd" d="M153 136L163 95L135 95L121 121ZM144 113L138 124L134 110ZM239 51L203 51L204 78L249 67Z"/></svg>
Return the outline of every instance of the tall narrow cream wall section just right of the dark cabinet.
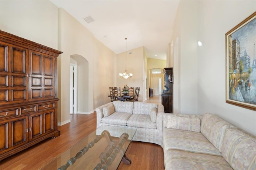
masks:
<svg viewBox="0 0 256 170"><path fill-rule="evenodd" d="M198 113L197 14L197 2L180 1L170 56L174 60L174 113Z"/></svg>

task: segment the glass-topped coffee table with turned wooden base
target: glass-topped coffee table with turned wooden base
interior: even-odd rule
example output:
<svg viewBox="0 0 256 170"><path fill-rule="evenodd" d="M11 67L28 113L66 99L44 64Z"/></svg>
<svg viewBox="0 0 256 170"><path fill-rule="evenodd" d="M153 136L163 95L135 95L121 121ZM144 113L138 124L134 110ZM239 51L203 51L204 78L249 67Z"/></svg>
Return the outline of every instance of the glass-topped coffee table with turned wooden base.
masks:
<svg viewBox="0 0 256 170"><path fill-rule="evenodd" d="M102 125L46 164L41 170L112 170L131 164L125 152L136 128Z"/></svg>

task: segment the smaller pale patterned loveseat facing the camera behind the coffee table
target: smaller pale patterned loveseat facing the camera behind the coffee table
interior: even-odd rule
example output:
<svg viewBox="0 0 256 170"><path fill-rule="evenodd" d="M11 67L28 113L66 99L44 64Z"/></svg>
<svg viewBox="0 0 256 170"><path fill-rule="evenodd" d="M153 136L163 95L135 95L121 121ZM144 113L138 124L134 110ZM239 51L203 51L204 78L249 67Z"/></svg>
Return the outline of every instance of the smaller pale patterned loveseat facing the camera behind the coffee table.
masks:
<svg viewBox="0 0 256 170"><path fill-rule="evenodd" d="M101 125L136 128L133 140L162 146L164 106L155 103L113 101L96 108Z"/></svg>

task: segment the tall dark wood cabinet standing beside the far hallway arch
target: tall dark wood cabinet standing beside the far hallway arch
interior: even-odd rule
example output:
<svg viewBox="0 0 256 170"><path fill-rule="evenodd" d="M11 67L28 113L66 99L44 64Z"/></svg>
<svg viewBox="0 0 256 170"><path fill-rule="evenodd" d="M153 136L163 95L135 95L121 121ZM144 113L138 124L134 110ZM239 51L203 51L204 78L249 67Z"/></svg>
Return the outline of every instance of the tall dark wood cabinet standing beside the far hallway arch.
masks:
<svg viewBox="0 0 256 170"><path fill-rule="evenodd" d="M172 84L173 73L172 68L164 68L164 90L161 94L162 105L164 105L164 113L172 113Z"/></svg>

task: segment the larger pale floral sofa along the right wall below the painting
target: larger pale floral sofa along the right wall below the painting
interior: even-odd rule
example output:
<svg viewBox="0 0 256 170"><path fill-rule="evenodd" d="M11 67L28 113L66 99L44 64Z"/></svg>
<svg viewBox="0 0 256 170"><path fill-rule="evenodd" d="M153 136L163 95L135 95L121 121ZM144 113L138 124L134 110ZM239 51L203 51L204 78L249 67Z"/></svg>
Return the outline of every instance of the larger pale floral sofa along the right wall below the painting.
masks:
<svg viewBox="0 0 256 170"><path fill-rule="evenodd" d="M166 170L256 170L256 136L216 115L163 116Z"/></svg>

